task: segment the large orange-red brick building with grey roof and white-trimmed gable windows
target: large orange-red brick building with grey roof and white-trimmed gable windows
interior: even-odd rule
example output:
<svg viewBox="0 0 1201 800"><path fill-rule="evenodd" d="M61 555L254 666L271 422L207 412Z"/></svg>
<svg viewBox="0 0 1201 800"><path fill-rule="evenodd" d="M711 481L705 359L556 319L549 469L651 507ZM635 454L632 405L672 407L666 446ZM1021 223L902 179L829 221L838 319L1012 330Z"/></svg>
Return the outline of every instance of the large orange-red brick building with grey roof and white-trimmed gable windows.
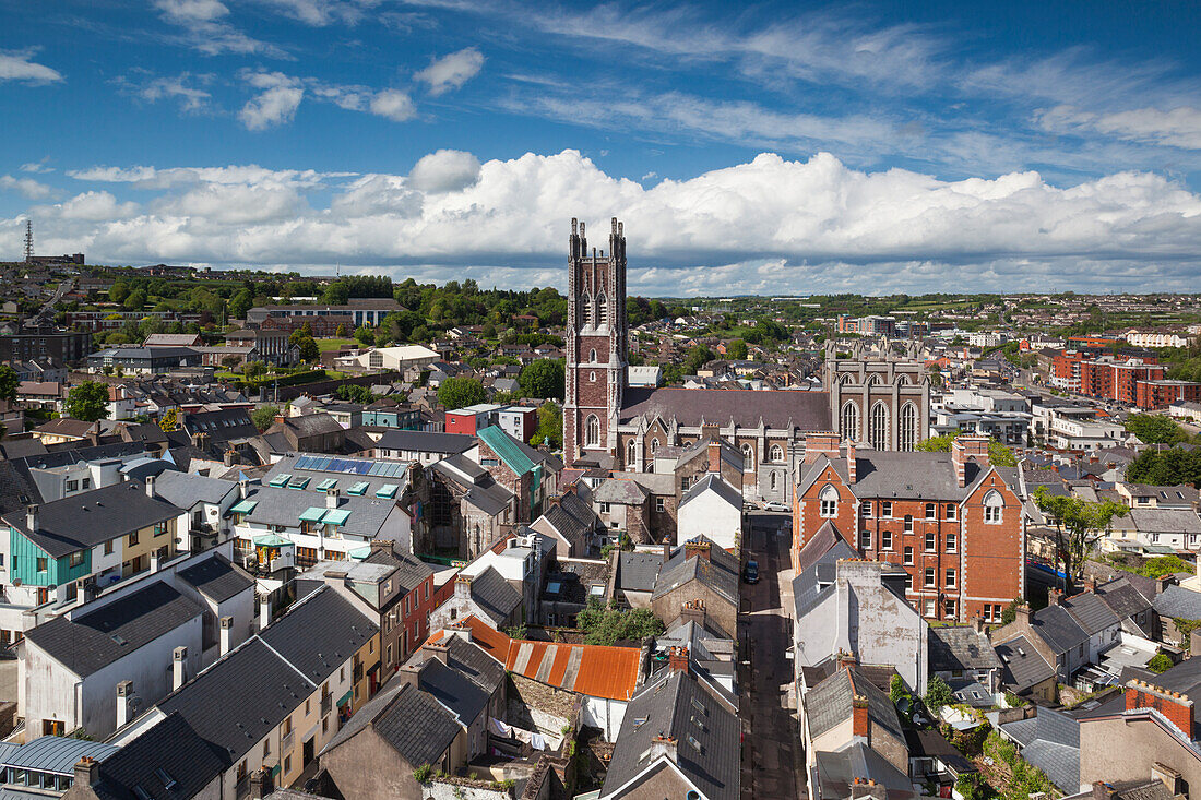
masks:
<svg viewBox="0 0 1201 800"><path fill-rule="evenodd" d="M987 437L961 436L951 453L896 453L811 434L794 492L793 567L830 525L865 559L902 566L922 616L999 621L1024 591L1016 474L990 465Z"/></svg>

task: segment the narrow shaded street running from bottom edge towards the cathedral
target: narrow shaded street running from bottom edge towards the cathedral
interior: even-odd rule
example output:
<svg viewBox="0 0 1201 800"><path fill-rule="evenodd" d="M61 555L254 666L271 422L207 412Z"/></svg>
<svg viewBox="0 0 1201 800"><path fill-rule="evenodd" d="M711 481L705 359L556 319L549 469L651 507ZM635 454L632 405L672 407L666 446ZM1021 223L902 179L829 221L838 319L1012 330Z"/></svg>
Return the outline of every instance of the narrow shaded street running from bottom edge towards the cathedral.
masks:
<svg viewBox="0 0 1201 800"><path fill-rule="evenodd" d="M793 602L788 561L788 518L751 514L747 559L759 562L758 584L742 584L739 640L745 687L742 718L742 796L801 798L806 795L803 759L797 742L793 662L787 651L793 622L784 610Z"/></svg>

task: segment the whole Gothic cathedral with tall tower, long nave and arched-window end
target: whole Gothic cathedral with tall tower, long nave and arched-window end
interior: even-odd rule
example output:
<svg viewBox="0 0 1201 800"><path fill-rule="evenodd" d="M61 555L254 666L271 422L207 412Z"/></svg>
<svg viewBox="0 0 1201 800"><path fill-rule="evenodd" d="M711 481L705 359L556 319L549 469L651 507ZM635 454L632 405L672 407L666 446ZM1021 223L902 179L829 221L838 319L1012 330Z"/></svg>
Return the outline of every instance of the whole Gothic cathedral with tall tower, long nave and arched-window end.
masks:
<svg viewBox="0 0 1201 800"><path fill-rule="evenodd" d="M651 472L656 455L722 437L742 454L745 497L790 502L807 434L837 432L877 450L910 450L930 436L922 365L888 348L883 358L861 348L838 358L827 346L820 392L629 387L622 223L610 221L608 251L588 250L573 219L568 269L568 466Z"/></svg>

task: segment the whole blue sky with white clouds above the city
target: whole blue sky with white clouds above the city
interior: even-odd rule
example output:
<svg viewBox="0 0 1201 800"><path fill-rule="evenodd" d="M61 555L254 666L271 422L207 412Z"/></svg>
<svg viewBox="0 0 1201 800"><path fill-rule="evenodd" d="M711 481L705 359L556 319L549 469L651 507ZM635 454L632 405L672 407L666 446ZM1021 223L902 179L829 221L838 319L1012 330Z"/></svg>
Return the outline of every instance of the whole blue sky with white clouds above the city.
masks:
<svg viewBox="0 0 1201 800"><path fill-rule="evenodd" d="M1201 291L1201 6L0 0L0 259Z"/></svg>

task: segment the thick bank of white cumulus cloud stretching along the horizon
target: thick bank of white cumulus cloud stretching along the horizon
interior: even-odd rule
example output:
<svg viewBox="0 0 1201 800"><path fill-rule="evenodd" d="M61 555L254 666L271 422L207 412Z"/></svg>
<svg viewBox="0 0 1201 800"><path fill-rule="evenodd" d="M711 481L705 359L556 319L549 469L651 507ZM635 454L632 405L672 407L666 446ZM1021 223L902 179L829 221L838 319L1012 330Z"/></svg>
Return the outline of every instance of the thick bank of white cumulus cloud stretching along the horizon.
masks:
<svg viewBox="0 0 1201 800"><path fill-rule="evenodd" d="M1146 172L1060 187L1035 172L948 181L853 169L825 153L765 153L647 189L575 150L484 163L440 150L407 175L256 166L67 174L94 185L30 209L40 240L100 263L328 271L337 262L396 277L561 286L570 217L607 247L617 216L631 289L652 294L1193 291L1201 275L1201 196ZM150 197L120 202L95 184ZM22 220L0 222L0 239L18 240Z"/></svg>

